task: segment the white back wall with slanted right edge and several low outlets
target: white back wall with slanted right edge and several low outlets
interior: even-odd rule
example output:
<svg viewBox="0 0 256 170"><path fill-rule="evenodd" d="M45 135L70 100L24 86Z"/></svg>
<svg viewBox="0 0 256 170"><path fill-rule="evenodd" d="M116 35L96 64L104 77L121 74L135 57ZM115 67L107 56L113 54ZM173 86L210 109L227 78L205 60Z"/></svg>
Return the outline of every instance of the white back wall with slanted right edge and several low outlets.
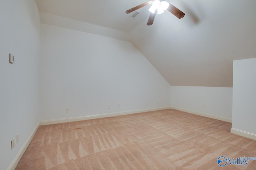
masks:
<svg viewBox="0 0 256 170"><path fill-rule="evenodd" d="M170 106L170 85L130 42L41 25L42 120Z"/></svg>

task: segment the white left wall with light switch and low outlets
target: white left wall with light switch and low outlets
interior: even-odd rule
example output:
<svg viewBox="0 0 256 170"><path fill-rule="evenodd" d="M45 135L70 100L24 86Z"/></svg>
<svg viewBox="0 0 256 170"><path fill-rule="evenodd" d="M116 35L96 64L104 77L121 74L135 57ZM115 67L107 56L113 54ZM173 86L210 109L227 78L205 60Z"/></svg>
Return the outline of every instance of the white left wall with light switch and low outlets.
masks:
<svg viewBox="0 0 256 170"><path fill-rule="evenodd" d="M0 169L6 170L39 121L40 16L34 0L0 4ZM9 53L15 63L9 63ZM11 140L20 140L11 150Z"/></svg>

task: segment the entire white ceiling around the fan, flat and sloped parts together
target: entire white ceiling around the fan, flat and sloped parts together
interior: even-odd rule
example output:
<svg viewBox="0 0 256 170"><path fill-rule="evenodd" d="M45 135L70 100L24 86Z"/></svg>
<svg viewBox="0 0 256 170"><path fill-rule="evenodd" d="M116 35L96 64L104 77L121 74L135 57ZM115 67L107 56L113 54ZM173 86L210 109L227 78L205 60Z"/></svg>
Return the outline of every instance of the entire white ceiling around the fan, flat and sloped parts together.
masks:
<svg viewBox="0 0 256 170"><path fill-rule="evenodd" d="M40 12L128 32L131 42L172 86L232 87L232 61L256 57L255 0L167 0L170 12L146 22L125 11L146 0L36 0Z"/></svg>

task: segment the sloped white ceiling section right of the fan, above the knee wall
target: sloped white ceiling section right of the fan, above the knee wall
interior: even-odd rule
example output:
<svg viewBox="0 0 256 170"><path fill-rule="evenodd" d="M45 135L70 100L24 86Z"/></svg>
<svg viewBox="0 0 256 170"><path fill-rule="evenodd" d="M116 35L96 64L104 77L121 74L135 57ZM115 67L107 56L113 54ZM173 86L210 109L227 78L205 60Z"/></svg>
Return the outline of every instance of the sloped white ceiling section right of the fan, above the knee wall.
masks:
<svg viewBox="0 0 256 170"><path fill-rule="evenodd" d="M172 86L232 87L233 60L256 57L255 0L176 0L186 15L157 15L132 43Z"/></svg>

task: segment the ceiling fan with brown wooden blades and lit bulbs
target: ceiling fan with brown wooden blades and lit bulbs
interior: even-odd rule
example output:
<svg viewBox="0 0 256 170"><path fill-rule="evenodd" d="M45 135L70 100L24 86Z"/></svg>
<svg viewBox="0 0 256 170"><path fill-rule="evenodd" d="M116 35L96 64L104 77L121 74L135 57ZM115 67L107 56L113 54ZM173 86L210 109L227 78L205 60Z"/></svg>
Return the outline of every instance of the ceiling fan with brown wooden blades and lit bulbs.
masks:
<svg viewBox="0 0 256 170"><path fill-rule="evenodd" d="M178 8L176 8L169 2L166 2L165 0L150 0L148 2L145 2L143 4L135 6L134 8L131 8L130 10L127 10L125 13L129 14L130 12L133 12L135 10L138 10L138 9L140 9L144 6L150 5L150 4L152 4L152 6L149 8L149 11L151 13L148 18L147 25L152 25L156 14L162 14L164 12L164 10L170 11L172 14L174 14L174 16L176 16L179 19L183 18L185 15L182 11L180 11Z"/></svg>

